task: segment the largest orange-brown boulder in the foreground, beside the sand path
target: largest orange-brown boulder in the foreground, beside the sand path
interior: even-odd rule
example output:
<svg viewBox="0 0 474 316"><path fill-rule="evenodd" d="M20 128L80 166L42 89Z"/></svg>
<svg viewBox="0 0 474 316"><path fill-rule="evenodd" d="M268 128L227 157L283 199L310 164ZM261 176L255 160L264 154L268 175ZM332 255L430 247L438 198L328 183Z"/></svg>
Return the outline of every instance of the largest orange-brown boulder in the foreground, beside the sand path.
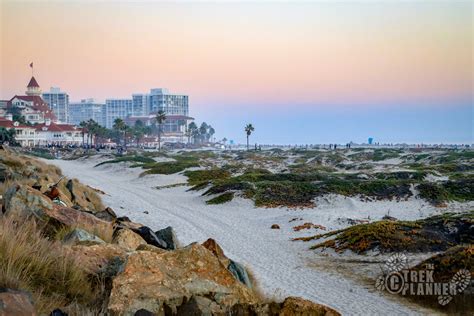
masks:
<svg viewBox="0 0 474 316"><path fill-rule="evenodd" d="M256 298L200 244L175 251L137 251L129 255L123 272L114 278L108 305L111 315L177 313L193 296L206 297L221 309Z"/></svg>

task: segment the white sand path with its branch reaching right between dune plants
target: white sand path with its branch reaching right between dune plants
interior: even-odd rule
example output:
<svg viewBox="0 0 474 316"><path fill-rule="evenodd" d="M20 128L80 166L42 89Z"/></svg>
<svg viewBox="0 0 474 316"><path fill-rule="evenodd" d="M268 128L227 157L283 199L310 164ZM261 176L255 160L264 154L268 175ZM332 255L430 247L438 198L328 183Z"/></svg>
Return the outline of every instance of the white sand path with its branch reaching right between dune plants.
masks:
<svg viewBox="0 0 474 316"><path fill-rule="evenodd" d="M237 197L224 205L206 205L201 192L187 192L186 186L156 189L185 183L183 175L140 178L140 168L127 168L124 164L94 168L98 162L97 159L47 161L60 167L66 176L103 190L104 204L119 216L128 216L154 230L172 226L183 245L214 238L230 258L253 272L269 296L301 296L343 314L432 313L382 294L371 285L310 265L314 259L314 252L308 250L310 245L291 241L294 237L324 232L293 230L304 222L323 225L328 231L347 226L346 218L374 220L389 214L399 219L418 219L440 212L422 200L362 202L357 198L325 196L316 201L315 208L292 210L256 208L251 200ZM461 208L457 204L448 205L450 210ZM294 218L297 220L290 222ZM272 224L278 224L281 229L270 229Z"/></svg>

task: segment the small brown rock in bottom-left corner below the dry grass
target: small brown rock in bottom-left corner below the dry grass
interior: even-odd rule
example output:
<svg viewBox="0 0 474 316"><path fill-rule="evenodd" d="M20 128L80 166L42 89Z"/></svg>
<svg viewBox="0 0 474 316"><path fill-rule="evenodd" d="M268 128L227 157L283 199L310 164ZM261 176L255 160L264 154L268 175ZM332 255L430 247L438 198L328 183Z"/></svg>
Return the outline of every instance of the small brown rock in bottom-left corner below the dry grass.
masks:
<svg viewBox="0 0 474 316"><path fill-rule="evenodd" d="M31 295L24 291L0 288L0 316L9 315L37 315Z"/></svg>

